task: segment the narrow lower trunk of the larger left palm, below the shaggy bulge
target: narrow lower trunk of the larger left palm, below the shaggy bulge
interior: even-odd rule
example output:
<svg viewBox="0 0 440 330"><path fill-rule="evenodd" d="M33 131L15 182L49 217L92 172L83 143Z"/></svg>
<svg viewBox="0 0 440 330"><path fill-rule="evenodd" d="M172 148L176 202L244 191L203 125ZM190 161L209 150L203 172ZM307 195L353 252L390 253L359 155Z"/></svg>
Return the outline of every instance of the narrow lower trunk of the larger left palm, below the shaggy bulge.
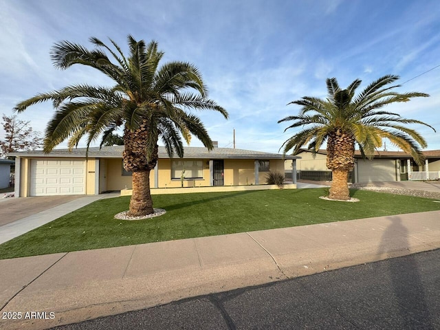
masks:
<svg viewBox="0 0 440 330"><path fill-rule="evenodd" d="M150 171L149 168L133 171L133 195L127 214L130 217L142 217L154 212L150 193Z"/></svg>

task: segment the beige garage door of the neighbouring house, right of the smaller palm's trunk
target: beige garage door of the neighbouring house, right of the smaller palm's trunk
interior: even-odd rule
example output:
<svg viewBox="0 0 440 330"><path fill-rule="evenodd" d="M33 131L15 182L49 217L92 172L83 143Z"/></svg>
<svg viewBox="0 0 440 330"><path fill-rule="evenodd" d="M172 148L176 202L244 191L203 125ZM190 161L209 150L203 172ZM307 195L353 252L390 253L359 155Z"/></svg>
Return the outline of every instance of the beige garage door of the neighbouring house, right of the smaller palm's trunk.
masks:
<svg viewBox="0 0 440 330"><path fill-rule="evenodd" d="M394 159L358 159L357 182L396 181Z"/></svg>

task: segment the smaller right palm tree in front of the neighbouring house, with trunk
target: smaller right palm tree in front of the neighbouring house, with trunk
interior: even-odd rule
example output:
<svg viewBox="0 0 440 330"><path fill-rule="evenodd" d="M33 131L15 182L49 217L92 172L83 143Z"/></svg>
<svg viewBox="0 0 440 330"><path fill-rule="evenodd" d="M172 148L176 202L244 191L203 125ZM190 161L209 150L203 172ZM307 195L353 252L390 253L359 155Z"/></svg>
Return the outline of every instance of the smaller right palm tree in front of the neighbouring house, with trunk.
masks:
<svg viewBox="0 0 440 330"><path fill-rule="evenodd" d="M294 154L298 153L306 144L307 148L316 153L327 142L327 168L333 175L329 198L350 199L347 179L355 162L355 144L358 144L364 157L372 159L375 149L382 146L385 137L412 155L417 164L423 162L421 148L426 148L426 141L405 125L432 126L419 120L402 118L398 113L384 111L382 108L386 104L407 102L410 98L429 95L418 92L397 93L393 89L399 85L387 86L397 79L398 76L383 76L358 96L355 96L355 90L361 80L356 79L347 89L340 89L336 78L327 79L328 96L325 100L306 96L290 102L302 107L300 113L278 121L293 120L294 123L287 129L302 126L298 133L284 142L284 154L292 149Z"/></svg>

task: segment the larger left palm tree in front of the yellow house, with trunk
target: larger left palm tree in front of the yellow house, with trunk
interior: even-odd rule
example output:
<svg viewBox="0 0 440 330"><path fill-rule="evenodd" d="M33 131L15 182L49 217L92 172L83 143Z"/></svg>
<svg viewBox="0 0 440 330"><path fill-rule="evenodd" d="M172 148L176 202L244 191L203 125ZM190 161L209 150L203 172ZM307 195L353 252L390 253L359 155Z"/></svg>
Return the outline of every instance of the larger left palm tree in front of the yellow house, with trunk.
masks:
<svg viewBox="0 0 440 330"><path fill-rule="evenodd" d="M137 217L154 212L149 176L157 164L159 138L170 157L174 152L183 157L182 137L189 143L191 135L212 149L212 140L201 120L189 110L219 111L226 119L228 112L207 98L207 89L197 67L179 61L159 67L164 53L157 50L155 41L146 45L130 35L127 39L128 58L111 39L114 48L90 38L94 50L69 41L56 43L51 50L56 68L87 65L111 78L114 85L71 85L37 94L17 104L14 110L22 112L33 104L53 101L55 113L45 131L45 153L50 153L67 138L71 149L82 137L87 137L87 150L100 136L102 146L109 135L122 127L124 168L133 172L133 195L128 214Z"/></svg>

